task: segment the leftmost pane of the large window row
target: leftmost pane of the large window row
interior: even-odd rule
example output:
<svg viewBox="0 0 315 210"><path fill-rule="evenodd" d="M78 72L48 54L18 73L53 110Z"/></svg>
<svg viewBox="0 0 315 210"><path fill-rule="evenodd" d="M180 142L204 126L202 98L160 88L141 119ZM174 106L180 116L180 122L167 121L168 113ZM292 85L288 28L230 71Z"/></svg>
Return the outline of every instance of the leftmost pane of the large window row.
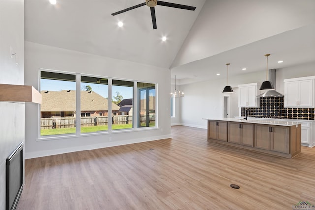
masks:
<svg viewBox="0 0 315 210"><path fill-rule="evenodd" d="M75 133L75 75L42 71L40 135Z"/></svg>

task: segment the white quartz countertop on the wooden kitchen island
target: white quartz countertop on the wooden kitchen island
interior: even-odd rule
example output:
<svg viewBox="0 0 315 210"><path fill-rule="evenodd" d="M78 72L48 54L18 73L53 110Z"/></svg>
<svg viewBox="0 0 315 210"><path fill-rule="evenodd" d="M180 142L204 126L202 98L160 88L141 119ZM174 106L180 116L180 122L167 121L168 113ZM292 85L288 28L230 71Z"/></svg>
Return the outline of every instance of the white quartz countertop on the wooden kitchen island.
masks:
<svg viewBox="0 0 315 210"><path fill-rule="evenodd" d="M266 125L280 125L280 126L293 126L302 124L297 121L287 121L287 120L254 120L254 119L236 119L236 118L203 118L204 120L218 120L218 121L229 121L229 122L244 122L253 124L266 124Z"/></svg>

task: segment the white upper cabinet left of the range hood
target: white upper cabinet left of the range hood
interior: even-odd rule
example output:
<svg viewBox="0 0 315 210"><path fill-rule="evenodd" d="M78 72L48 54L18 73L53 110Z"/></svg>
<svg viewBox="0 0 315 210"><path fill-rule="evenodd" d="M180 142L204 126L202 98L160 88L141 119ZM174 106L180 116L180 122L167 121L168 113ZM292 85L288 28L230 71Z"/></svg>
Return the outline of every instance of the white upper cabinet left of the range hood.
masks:
<svg viewBox="0 0 315 210"><path fill-rule="evenodd" d="M258 107L257 83L238 85L238 106Z"/></svg>

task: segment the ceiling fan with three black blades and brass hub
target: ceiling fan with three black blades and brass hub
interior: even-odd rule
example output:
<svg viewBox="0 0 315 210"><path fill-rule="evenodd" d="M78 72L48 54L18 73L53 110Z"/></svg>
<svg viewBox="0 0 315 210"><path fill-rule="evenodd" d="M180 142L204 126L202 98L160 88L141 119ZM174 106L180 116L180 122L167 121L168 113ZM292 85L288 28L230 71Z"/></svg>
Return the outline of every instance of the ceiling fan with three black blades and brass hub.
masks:
<svg viewBox="0 0 315 210"><path fill-rule="evenodd" d="M168 7L178 8L178 9L187 9L187 10L192 10L192 11L194 11L196 9L196 7L194 7L194 6L187 6L187 5L177 4L177 3L169 3L169 2L159 1L159 0L146 0L145 3L140 3L138 5L123 9L121 11L114 12L114 13L112 13L112 15L113 16L118 15L120 13L129 11L131 9L135 9L135 8L138 8L138 7L141 7L144 5L147 5L148 7L150 7L153 29L157 28L156 13L155 13L155 9L154 9L154 7L156 5L168 6Z"/></svg>

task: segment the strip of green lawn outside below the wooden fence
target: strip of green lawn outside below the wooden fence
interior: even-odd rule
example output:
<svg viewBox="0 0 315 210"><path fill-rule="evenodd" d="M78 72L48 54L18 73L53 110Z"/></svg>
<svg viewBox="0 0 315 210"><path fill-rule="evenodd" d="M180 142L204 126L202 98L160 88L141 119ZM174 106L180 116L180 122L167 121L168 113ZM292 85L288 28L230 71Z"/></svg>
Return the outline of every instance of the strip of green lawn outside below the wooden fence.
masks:
<svg viewBox="0 0 315 210"><path fill-rule="evenodd" d="M112 125L112 130L132 128L132 124ZM81 133L108 130L107 125L81 127ZM75 133L75 127L40 130L41 136Z"/></svg>

